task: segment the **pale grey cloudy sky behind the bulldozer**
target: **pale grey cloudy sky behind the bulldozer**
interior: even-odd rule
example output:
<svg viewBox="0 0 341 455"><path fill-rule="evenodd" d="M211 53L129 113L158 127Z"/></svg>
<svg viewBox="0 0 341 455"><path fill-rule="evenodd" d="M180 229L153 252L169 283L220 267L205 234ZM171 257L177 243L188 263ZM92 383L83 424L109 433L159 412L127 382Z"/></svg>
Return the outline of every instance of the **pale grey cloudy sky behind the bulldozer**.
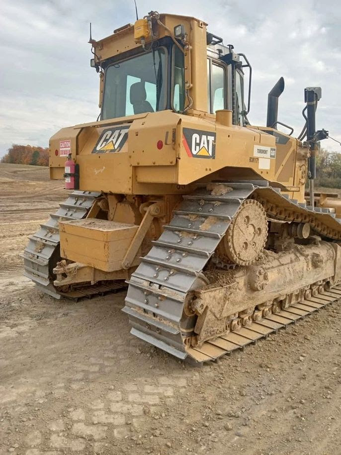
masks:
<svg viewBox="0 0 341 455"><path fill-rule="evenodd" d="M245 53L253 66L249 119L266 121L267 92L280 76L278 120L303 126L304 88L321 86L317 128L341 141L341 3L338 0L137 0L139 15L195 15ZM63 126L93 121L98 75L90 68L88 23L100 39L134 22L134 1L1 0L0 156L12 143L47 146ZM341 152L327 140L322 144Z"/></svg>

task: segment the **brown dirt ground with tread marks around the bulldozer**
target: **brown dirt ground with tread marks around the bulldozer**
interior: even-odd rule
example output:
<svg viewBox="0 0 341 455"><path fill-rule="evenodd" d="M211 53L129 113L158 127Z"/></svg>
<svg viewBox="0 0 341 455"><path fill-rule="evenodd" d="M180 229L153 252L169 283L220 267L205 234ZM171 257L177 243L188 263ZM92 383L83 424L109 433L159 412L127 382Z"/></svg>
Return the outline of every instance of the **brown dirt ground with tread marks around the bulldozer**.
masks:
<svg viewBox="0 0 341 455"><path fill-rule="evenodd" d="M55 301L22 275L66 198L0 165L0 454L341 454L338 304L193 367L129 334L124 293Z"/></svg>

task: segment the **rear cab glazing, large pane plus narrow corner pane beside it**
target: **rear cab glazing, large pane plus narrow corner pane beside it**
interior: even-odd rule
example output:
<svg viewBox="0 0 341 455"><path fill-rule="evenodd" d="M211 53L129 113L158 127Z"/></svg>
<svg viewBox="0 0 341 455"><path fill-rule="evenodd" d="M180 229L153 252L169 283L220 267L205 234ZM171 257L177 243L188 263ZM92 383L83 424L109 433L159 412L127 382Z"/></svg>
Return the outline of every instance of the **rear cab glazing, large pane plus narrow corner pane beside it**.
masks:
<svg viewBox="0 0 341 455"><path fill-rule="evenodd" d="M102 63L102 120L165 109L183 111L183 54L170 37L154 42L152 49L122 57Z"/></svg>

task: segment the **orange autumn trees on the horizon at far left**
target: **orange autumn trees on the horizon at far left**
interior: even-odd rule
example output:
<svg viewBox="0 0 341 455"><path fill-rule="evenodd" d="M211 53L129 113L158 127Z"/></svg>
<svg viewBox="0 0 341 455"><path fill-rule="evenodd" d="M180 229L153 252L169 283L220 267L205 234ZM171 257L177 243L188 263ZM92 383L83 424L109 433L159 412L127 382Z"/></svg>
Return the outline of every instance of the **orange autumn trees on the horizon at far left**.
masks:
<svg viewBox="0 0 341 455"><path fill-rule="evenodd" d="M1 158L0 163L29 164L32 166L49 165L48 147L13 144Z"/></svg>

